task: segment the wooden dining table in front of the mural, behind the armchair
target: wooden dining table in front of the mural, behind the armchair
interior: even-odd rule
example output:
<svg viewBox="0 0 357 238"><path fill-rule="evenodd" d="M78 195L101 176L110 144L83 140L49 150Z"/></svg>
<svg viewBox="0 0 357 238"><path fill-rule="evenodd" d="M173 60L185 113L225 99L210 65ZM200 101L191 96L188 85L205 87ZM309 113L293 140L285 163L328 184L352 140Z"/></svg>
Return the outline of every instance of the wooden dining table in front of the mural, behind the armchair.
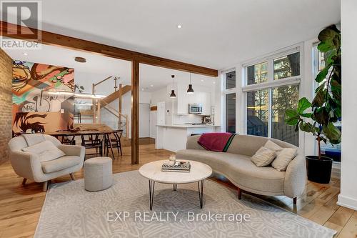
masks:
<svg viewBox="0 0 357 238"><path fill-rule="evenodd" d="M57 132L45 132L45 134L48 134L52 137L56 137L56 139L59 139L59 137L69 137L71 138L69 144L74 144L74 139L79 136L103 135L104 140L108 140L109 147L111 148L111 153L113 154L113 158L115 158L113 152L113 145L111 144L111 139L110 139L110 135L113 133L114 133L113 130L94 130L94 129L79 130L77 132L71 132L67 130L57 131ZM61 140L59 139L59 141Z"/></svg>

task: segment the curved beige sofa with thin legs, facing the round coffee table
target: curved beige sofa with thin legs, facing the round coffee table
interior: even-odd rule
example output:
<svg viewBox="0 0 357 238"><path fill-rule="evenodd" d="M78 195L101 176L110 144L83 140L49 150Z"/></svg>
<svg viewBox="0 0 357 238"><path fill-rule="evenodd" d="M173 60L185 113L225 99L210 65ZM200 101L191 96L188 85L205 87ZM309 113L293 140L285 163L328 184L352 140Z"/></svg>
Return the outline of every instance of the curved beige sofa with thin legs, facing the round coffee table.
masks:
<svg viewBox="0 0 357 238"><path fill-rule="evenodd" d="M286 172L279 172L273 167L256 167L251 156L262 147L268 138L248 135L236 135L227 152L211 152L203 149L197 141L200 136L188 137L186 149L176 153L176 159L189 159L208 164L214 172L223 174L238 187L238 198L245 190L268 196L286 195L293 198L300 196L306 184L305 157L298 150L296 157L288 164ZM270 139L284 148L296 148L292 144L278 139Z"/></svg>

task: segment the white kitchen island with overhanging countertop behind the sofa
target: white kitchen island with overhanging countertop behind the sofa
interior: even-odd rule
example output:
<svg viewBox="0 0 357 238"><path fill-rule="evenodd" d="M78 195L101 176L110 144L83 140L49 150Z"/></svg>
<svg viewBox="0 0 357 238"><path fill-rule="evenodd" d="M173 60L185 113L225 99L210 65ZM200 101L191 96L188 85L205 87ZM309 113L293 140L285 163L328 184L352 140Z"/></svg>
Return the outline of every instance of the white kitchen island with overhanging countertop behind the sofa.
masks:
<svg viewBox="0 0 357 238"><path fill-rule="evenodd" d="M187 137L191 134L220 132L220 128L221 126L203 124L156 125L155 149L178 152L180 149L186 149Z"/></svg>

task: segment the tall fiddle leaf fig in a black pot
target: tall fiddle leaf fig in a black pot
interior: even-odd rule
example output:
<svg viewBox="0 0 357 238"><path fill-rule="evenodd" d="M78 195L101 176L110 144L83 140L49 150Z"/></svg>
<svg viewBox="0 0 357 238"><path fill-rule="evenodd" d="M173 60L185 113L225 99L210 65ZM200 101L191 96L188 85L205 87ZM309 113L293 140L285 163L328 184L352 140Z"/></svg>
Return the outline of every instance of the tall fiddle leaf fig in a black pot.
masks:
<svg viewBox="0 0 357 238"><path fill-rule="evenodd" d="M341 31L328 26L318 34L318 50L323 52L325 67L316 76L318 87L313 101L305 97L296 109L286 110L286 123L316 137L318 156L306 156L308 180L329 183L333 159L321 156L321 142L339 144L341 130L336 122L341 119Z"/></svg>

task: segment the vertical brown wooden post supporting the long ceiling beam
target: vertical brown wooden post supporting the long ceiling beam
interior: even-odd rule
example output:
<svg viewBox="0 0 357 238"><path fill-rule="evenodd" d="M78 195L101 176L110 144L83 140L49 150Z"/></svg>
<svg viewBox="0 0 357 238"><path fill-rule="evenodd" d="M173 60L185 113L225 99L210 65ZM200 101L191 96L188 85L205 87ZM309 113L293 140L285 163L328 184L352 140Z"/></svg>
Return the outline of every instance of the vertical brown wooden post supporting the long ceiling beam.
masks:
<svg viewBox="0 0 357 238"><path fill-rule="evenodd" d="M139 61L131 62L131 164L139 164Z"/></svg>

